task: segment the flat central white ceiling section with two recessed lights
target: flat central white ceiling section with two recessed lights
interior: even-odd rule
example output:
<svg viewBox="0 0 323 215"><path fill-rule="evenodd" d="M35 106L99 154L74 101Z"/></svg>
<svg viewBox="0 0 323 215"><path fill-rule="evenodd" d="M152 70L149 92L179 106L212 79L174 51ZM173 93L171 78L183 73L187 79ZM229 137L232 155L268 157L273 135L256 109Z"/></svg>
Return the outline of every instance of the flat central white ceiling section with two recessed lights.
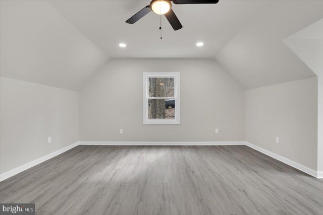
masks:
<svg viewBox="0 0 323 215"><path fill-rule="evenodd" d="M110 57L213 58L237 34L261 1L220 1L207 5L175 5L183 25L174 31L161 16L150 12L135 24L125 21L149 5L146 1L49 1L69 22ZM197 41L205 46L197 48ZM125 42L127 49L118 44Z"/></svg>

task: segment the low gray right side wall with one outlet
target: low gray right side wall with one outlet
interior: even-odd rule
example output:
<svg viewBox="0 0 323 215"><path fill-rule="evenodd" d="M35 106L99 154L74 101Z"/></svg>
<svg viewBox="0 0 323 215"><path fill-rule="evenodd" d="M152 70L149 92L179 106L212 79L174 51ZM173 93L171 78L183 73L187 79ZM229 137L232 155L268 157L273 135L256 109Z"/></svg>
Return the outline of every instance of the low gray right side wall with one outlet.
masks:
<svg viewBox="0 0 323 215"><path fill-rule="evenodd" d="M317 77L247 90L245 98L246 141L317 170Z"/></svg>

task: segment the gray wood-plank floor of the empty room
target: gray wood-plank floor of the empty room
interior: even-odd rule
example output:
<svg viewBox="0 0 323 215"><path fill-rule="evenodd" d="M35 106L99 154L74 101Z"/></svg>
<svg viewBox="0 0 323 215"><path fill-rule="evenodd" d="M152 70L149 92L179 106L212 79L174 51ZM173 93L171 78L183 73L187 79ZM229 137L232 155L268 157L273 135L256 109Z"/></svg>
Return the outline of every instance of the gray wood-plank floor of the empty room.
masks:
<svg viewBox="0 0 323 215"><path fill-rule="evenodd" d="M78 146L0 183L36 214L323 214L323 181L246 146Z"/></svg>

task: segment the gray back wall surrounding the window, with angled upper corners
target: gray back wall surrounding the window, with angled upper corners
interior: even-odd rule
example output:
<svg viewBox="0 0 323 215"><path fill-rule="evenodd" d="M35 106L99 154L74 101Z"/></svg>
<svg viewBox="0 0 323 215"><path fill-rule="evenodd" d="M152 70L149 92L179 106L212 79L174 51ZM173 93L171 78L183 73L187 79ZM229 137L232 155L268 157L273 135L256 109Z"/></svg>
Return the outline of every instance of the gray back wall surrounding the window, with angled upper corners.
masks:
<svg viewBox="0 0 323 215"><path fill-rule="evenodd" d="M180 125L143 125L142 73L153 71L181 73ZM214 60L111 59L79 92L80 140L244 141L244 97Z"/></svg>

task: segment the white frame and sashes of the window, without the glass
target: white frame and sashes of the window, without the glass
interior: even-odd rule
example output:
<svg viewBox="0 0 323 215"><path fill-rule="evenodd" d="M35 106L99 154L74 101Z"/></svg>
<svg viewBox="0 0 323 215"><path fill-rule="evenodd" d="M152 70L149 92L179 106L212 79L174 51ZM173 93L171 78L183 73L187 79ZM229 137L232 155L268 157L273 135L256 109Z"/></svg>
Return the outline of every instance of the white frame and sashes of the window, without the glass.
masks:
<svg viewBox="0 0 323 215"><path fill-rule="evenodd" d="M148 100L159 99L149 97L149 78L174 78L174 99L175 99L175 119L148 119ZM164 97L160 99L173 99ZM156 72L143 73L143 124L180 124L180 73L179 72Z"/></svg>

